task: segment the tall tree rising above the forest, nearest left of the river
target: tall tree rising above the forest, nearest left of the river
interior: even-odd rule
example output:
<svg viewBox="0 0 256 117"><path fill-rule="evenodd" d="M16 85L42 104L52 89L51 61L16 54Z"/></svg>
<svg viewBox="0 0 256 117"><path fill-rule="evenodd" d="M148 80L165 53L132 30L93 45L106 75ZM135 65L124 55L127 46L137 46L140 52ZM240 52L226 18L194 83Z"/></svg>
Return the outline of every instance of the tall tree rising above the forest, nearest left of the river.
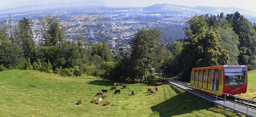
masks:
<svg viewBox="0 0 256 117"><path fill-rule="evenodd" d="M39 18L40 24L42 25L41 33L45 39L46 46L61 44L64 39L64 30L59 25L59 20L55 16L46 16L46 18Z"/></svg>

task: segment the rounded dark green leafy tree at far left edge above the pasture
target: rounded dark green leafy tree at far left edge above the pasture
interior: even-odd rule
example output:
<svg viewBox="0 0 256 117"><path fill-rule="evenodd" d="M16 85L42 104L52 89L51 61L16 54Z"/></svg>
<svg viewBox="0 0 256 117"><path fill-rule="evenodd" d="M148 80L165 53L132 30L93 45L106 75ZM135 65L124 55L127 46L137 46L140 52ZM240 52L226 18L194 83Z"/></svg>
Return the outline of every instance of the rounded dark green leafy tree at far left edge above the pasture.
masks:
<svg viewBox="0 0 256 117"><path fill-rule="evenodd" d="M21 65L23 61L23 51L9 41L2 41L0 44L0 65L6 68L14 68Z"/></svg>

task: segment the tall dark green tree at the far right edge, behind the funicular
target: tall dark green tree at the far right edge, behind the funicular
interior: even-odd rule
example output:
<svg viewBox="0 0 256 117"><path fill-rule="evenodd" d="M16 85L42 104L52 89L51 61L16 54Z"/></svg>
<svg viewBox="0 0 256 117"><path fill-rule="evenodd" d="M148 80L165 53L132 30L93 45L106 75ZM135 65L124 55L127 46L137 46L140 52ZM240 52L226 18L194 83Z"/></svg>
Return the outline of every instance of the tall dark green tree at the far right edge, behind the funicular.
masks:
<svg viewBox="0 0 256 117"><path fill-rule="evenodd" d="M256 64L256 32L252 23L239 12L228 14L226 19L239 38L238 63L243 65Z"/></svg>

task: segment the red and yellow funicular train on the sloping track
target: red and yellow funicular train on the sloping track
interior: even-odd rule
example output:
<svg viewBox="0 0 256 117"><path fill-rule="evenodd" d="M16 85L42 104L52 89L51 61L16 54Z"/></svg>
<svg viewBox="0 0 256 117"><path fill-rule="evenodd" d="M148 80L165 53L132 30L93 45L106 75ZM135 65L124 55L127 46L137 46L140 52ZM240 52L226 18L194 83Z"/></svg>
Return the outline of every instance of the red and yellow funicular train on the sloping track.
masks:
<svg viewBox="0 0 256 117"><path fill-rule="evenodd" d="M193 68L190 85L198 90L204 91L205 88L205 92L223 96L223 93L231 95L246 93L247 82L247 66L213 66ZM210 90L214 91L210 92ZM223 93L217 94L215 91Z"/></svg>

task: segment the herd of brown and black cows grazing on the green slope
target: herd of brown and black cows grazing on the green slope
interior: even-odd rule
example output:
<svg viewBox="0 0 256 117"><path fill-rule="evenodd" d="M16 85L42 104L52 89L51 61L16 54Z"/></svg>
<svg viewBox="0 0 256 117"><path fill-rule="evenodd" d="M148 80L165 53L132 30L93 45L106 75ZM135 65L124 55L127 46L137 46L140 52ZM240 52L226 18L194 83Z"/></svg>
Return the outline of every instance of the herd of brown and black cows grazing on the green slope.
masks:
<svg viewBox="0 0 256 117"><path fill-rule="evenodd" d="M102 79L102 81L104 81L103 79ZM118 83L114 83L114 86L112 86L111 88L110 88L110 90L114 90L115 89L115 92L114 92L114 94L120 94L121 93L121 90L117 90L117 85L119 85ZM155 88L148 88L148 93L155 93L155 91L159 91L159 88L157 87L158 85L163 85L163 83L161 83L161 82L157 82L157 83L155 83ZM123 85L123 89L127 89L127 85ZM154 89L155 89L155 91L154 91ZM107 89L105 89L105 90L101 90L102 92L97 92L96 94L95 94L95 96L101 96L100 98L99 98L99 100L98 100L98 102L96 102L97 101L97 97L94 97L93 98L93 101L92 102L96 102L96 103L98 103L98 104L100 104L101 103L101 101L102 101L102 99L104 99L104 98L106 98L107 97ZM150 92L149 92L150 91ZM103 93L105 93L105 94L103 94ZM135 93L134 93L134 91L131 91L131 96L135 96ZM81 102L82 102L82 100L81 99L79 99L78 100L78 105L79 104L81 104ZM106 105L108 105L108 104L110 104L110 100L107 100L106 101L106 103L105 103L105 106Z"/></svg>

